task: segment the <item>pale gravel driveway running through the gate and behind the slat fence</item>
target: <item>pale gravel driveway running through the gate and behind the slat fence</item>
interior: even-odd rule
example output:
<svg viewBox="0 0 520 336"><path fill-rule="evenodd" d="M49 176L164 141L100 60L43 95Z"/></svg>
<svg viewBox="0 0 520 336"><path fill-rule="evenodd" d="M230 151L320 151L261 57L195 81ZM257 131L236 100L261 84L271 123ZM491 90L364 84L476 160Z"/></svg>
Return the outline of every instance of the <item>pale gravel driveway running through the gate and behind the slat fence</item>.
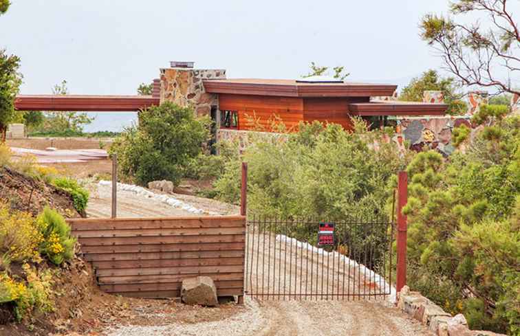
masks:
<svg viewBox="0 0 520 336"><path fill-rule="evenodd" d="M110 188L109 186L101 186L98 188L98 194L93 193L89 208L87 210L89 216L108 216L110 214ZM221 214L229 213L235 210L234 207L224 205L224 203L213 203L213 200L200 199L197 197L182 197L182 201L190 203L196 208L202 208L205 211L213 210ZM172 216L190 214L182 209L173 208L170 205L158 202L154 199L143 199L133 192L118 193L118 214L119 216ZM263 242L263 240L260 240ZM274 245L277 241L277 245ZM261 247L259 249L259 247ZM254 249L258 256L252 262L252 271L248 274L248 288L257 291L268 291L266 288L267 280L270 281L270 290L272 290L273 282L278 288L278 283L288 287L289 276L283 269L292 267L292 290L300 291L305 285L310 287L310 272L314 267L318 267L319 272L313 273L313 286L316 286L316 280L320 282L320 288L316 291L321 292L321 283L324 285L324 291L341 291L355 290L354 277L351 273L347 273L351 282L343 284L343 278L331 278L332 274L336 276L342 274L338 272L338 258L332 257L326 261L318 260L317 254L307 253L301 247L295 248L287 254L279 256L280 251L290 248L290 245L282 244L281 240L277 240L276 236L271 237L271 243L267 243L267 247L256 247L250 245L251 251ZM298 255L300 257L298 257ZM305 256L305 258L301 258ZM270 260L270 262L266 262ZM290 262L292 260L292 262ZM294 265L294 260L298 260L299 265ZM312 261L311 261L312 260ZM298 263L296 262L296 263ZM266 265L266 264L269 264ZM257 267L258 265L258 267ZM275 269L275 265L281 267ZM335 271L332 271L332 265ZM263 267L262 267L263 266ZM257 271L258 268L258 271ZM322 270L325 270L323 272ZM315 272L315 271L313 271ZM269 273L269 277L266 273ZM359 274L358 274L359 277ZM359 278L358 278L359 279ZM328 280L328 285L327 285ZM262 283L263 281L263 283ZM358 280L359 281L359 280ZM365 280L362 280L366 282ZM350 283L350 284L349 284ZM296 284L296 286L294 285ZM328 287L327 287L328 286ZM303 291L303 290L301 290ZM312 291L311 291L312 292ZM164 323L156 323L153 325L142 324L142 320L150 318L147 316L138 316L135 319L127 321L127 324L113 325L105 330L103 335L108 336L153 336L153 335L225 335L225 336L336 336L336 335L402 335L402 336L426 336L434 335L426 327L419 322L412 320L404 313L400 313L396 308L391 306L382 298L373 298L372 300L360 301L342 301L342 300L256 300L246 297L244 306L237 306L229 313L225 314L221 320L206 320L204 315L208 312L218 313L216 309L199 308L200 313L191 313L189 319L170 320L167 313L162 313ZM165 315L166 314L166 315ZM175 313L178 317L178 313ZM218 314L217 314L218 315ZM157 320L157 319L156 319Z"/></svg>

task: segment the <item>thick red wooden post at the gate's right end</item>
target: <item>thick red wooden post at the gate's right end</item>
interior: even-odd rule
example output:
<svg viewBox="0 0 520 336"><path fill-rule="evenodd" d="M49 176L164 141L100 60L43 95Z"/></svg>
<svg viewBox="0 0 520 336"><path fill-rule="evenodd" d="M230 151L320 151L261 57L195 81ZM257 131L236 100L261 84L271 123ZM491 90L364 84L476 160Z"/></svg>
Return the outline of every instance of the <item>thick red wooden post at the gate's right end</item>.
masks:
<svg viewBox="0 0 520 336"><path fill-rule="evenodd" d="M407 284L407 216L402 214L402 208L408 201L407 172L398 173L398 236L397 236L397 279L396 291L399 293Z"/></svg>

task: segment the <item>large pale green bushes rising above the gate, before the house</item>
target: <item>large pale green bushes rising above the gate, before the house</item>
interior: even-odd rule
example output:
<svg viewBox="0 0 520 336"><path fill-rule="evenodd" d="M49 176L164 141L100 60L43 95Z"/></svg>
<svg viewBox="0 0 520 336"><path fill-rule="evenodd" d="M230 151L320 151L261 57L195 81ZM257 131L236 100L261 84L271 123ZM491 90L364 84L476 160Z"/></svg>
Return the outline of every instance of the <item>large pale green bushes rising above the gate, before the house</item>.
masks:
<svg viewBox="0 0 520 336"><path fill-rule="evenodd" d="M215 182L217 197L238 203L240 162L248 162L248 208L280 216L369 216L381 214L389 195L387 183L402 169L393 144L380 131L367 131L355 120L357 132L337 124L300 124L287 141L253 141L241 156L226 160ZM379 150L371 144L379 140Z"/></svg>

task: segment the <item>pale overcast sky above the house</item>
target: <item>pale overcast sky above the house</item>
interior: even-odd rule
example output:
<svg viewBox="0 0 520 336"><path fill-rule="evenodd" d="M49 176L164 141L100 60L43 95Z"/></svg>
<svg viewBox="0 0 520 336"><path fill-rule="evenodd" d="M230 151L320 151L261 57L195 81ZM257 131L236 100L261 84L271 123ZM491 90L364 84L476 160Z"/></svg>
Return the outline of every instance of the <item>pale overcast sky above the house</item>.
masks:
<svg viewBox="0 0 520 336"><path fill-rule="evenodd" d="M440 59L418 36L447 0L11 0L0 48L21 57L22 93L133 94L169 60L228 78L297 78L311 61L348 80L406 84Z"/></svg>

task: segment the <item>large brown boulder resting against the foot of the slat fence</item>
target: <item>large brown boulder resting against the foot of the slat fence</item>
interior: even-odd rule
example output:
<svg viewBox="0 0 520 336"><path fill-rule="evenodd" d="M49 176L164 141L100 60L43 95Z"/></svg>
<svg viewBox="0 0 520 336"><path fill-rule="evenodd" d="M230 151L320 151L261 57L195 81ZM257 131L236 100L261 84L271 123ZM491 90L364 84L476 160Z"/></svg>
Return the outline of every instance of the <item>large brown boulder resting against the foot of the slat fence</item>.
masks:
<svg viewBox="0 0 520 336"><path fill-rule="evenodd" d="M217 289L213 280L208 276L197 276L182 280L181 300L185 304L200 304L202 306L216 306Z"/></svg>

